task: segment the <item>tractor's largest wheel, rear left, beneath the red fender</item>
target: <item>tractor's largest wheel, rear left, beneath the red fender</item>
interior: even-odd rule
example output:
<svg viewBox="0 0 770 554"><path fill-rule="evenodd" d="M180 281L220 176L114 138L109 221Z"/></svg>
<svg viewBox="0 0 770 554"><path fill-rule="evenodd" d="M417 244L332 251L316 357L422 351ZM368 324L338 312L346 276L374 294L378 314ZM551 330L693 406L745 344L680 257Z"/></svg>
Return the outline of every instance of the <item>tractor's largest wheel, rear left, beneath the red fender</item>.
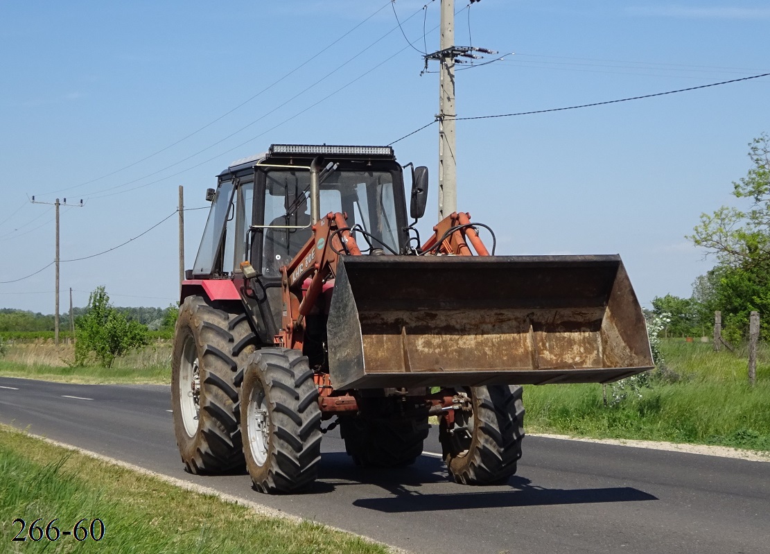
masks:
<svg viewBox="0 0 770 554"><path fill-rule="evenodd" d="M172 354L172 412L179 454L194 474L243 471L241 368L255 335L239 307L187 297Z"/></svg>

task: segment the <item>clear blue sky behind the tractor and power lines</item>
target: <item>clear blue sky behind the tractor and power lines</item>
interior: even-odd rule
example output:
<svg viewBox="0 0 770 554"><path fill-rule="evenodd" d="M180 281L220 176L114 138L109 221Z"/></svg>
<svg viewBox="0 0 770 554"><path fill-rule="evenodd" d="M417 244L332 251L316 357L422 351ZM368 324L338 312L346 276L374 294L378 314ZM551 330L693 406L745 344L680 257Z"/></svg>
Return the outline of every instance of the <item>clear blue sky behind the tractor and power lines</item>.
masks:
<svg viewBox="0 0 770 554"><path fill-rule="evenodd" d="M0 2L0 281L136 237L270 143L383 144L434 119L439 0ZM770 72L767 2L456 2L458 45L515 52L457 73L459 117L643 96ZM423 39L423 25L425 29ZM470 32L469 32L470 30ZM339 39L339 40L338 40ZM435 65L429 68L436 69ZM712 266L685 235L726 203L770 131L770 77L608 106L457 124L458 208L498 253L620 253L644 305ZM395 145L431 170L437 128ZM736 204L737 205L737 204ZM186 213L187 264L206 210ZM63 263L62 311L176 299L176 216ZM484 235L482 235L484 237ZM49 267L0 307L52 313Z"/></svg>

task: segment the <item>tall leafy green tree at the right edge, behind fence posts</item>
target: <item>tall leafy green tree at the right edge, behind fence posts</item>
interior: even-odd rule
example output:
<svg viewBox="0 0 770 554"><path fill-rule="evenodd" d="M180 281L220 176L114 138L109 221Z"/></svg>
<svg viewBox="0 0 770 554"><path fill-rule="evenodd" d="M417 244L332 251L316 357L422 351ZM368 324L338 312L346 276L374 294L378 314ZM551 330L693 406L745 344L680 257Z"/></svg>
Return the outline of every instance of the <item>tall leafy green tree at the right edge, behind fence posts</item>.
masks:
<svg viewBox="0 0 770 554"><path fill-rule="evenodd" d="M761 334L770 340L770 136L749 143L752 166L733 185L733 196L748 200L746 209L721 206L711 215L701 214L701 223L689 239L714 254L717 266L695 283L704 311L719 310L725 337L736 341L748 333L752 311L761 315Z"/></svg>

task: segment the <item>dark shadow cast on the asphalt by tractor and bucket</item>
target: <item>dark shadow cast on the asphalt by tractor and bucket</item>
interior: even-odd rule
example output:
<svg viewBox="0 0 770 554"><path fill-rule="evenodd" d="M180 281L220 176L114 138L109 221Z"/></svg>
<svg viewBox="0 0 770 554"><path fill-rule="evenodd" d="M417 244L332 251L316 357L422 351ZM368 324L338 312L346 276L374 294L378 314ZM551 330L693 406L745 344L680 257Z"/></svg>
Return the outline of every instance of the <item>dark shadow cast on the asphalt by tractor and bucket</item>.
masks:
<svg viewBox="0 0 770 554"><path fill-rule="evenodd" d="M331 492L345 485L374 485L386 490L383 498L357 499L353 505L377 512L437 512L474 508L513 508L536 505L598 504L658 500L632 487L601 489L547 489L514 475L507 485L467 487L450 482L444 463L421 457L407 468L360 468L342 453L323 456L315 491ZM420 488L431 492L420 492ZM433 492L440 487L447 492Z"/></svg>

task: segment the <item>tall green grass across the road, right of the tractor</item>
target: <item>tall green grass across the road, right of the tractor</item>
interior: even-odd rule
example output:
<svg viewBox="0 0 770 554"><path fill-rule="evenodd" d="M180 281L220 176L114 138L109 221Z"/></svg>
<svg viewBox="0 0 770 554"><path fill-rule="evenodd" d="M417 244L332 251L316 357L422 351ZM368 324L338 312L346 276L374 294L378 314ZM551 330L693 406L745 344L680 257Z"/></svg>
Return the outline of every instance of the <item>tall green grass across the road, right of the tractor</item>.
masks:
<svg viewBox="0 0 770 554"><path fill-rule="evenodd" d="M664 341L661 351L669 371L642 388L642 398L614 406L604 406L601 384L525 387L527 429L770 451L767 345L759 353L753 387L744 351L716 353L711 344L684 341Z"/></svg>

